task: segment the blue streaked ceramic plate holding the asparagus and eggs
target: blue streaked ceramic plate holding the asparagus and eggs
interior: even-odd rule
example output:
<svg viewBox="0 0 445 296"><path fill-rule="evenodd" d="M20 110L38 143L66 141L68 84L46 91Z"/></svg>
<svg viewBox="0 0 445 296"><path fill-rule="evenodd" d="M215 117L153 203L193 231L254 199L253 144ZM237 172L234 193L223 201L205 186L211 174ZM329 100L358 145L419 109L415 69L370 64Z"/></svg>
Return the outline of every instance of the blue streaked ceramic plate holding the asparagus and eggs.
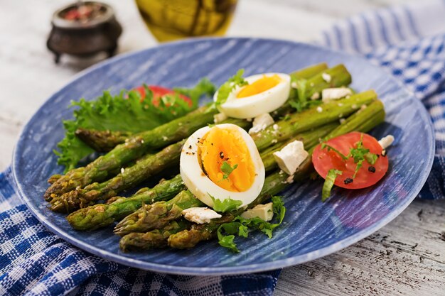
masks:
<svg viewBox="0 0 445 296"><path fill-rule="evenodd" d="M377 138L397 139L389 151L390 170L365 190L333 190L321 202L321 181L294 185L283 192L284 225L272 239L252 234L240 239L241 253L231 253L216 241L188 251L161 250L122 253L112 228L74 231L62 214L50 212L43 192L50 175L63 168L53 149L63 138L62 119L70 118L71 99L94 99L103 89L118 92L144 82L167 87L192 86L201 77L218 84L245 68L246 75L292 72L318 62L344 63L359 91L375 89L385 102L385 124L372 131ZM434 155L433 128L424 106L387 72L360 57L312 45L282 40L223 38L187 40L121 55L82 72L56 92L28 122L16 146L13 170L18 190L29 209L45 226L85 251L118 263L163 273L219 275L272 270L311 261L345 248L380 229L417 196L427 180Z"/></svg>

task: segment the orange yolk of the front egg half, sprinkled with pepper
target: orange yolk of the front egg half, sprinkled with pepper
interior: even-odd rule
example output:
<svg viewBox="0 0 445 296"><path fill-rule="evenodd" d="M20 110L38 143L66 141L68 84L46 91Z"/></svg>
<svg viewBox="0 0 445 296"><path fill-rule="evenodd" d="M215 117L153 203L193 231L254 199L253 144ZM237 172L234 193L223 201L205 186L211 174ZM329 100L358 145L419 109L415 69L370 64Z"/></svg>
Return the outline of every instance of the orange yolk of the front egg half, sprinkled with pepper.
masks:
<svg viewBox="0 0 445 296"><path fill-rule="evenodd" d="M205 175L225 190L244 192L254 182L255 168L249 149L236 130L216 126L210 129L198 143L198 157ZM227 174L227 165L236 168Z"/></svg>

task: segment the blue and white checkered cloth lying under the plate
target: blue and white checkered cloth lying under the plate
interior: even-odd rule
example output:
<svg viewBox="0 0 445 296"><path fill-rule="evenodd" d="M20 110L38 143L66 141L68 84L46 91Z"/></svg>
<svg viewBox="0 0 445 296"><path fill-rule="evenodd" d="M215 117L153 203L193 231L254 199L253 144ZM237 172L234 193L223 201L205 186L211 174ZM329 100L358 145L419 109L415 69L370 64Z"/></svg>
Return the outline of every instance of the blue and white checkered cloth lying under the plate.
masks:
<svg viewBox="0 0 445 296"><path fill-rule="evenodd" d="M445 2L372 11L338 23L319 44L364 55L422 99L436 131L436 157L423 188L444 198ZM128 268L50 234L0 174L0 295L272 295L279 270L195 277Z"/></svg>

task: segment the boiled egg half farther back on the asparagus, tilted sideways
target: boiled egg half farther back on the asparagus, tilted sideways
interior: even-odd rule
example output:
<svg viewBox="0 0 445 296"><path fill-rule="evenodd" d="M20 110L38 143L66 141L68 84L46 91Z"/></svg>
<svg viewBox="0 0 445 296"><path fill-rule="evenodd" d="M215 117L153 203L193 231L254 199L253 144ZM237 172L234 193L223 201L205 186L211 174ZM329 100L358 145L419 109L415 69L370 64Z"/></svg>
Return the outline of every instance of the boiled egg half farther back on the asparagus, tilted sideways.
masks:
<svg viewBox="0 0 445 296"><path fill-rule="evenodd" d="M291 91L291 77L283 73L265 73L245 78L249 84L230 92L220 112L238 119L254 118L282 106ZM213 100L216 102L218 92Z"/></svg>

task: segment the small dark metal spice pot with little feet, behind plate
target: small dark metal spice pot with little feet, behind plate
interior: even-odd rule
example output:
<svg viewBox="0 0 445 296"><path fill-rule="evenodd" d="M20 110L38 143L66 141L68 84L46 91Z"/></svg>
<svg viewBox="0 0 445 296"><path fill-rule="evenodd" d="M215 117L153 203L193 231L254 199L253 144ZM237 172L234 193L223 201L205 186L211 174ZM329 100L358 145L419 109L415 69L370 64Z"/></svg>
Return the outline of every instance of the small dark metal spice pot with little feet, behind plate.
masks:
<svg viewBox="0 0 445 296"><path fill-rule="evenodd" d="M105 52L111 57L117 49L122 26L117 22L111 6L96 1L85 1L82 4L100 6L100 15L86 22L63 18L67 11L77 8L77 4L65 6L53 14L53 28L46 45L55 54L56 63L62 54L87 57Z"/></svg>

